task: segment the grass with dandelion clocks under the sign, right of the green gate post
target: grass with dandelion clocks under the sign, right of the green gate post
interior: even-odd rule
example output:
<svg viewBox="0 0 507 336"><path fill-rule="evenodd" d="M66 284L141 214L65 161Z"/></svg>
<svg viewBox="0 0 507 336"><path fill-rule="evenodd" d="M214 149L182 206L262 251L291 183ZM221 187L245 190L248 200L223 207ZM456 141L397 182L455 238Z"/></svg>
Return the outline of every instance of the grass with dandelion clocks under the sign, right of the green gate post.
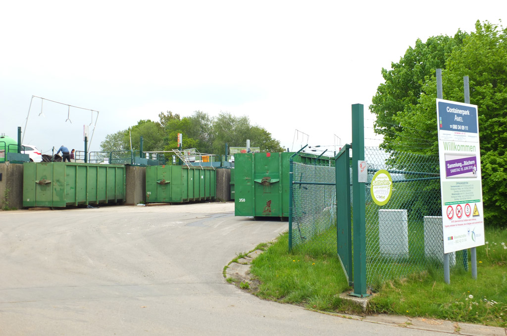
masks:
<svg viewBox="0 0 507 336"><path fill-rule="evenodd" d="M507 229L486 229L486 239L477 248L477 281L457 265L447 285L442 267L431 267L383 283L371 311L507 327Z"/></svg>

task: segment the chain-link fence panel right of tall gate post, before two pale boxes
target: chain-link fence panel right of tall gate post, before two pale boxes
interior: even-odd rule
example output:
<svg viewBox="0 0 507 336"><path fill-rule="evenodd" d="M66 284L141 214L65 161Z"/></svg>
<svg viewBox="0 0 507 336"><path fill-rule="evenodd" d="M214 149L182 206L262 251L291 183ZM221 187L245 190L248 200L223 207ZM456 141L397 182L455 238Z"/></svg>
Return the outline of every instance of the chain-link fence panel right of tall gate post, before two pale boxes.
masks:
<svg viewBox="0 0 507 336"><path fill-rule="evenodd" d="M438 155L387 154L365 148L367 284L427 270L443 261L442 209ZM387 204L373 201L371 181L379 170L392 179ZM456 262L451 256L451 265Z"/></svg>

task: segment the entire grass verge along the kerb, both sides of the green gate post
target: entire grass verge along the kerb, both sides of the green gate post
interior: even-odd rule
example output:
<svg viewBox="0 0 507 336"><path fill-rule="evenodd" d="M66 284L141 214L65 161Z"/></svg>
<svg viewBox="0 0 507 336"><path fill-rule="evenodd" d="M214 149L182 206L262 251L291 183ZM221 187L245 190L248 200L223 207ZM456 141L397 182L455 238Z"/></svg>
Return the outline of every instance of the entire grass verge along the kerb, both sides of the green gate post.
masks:
<svg viewBox="0 0 507 336"><path fill-rule="evenodd" d="M488 244L477 248L477 280L472 279L470 271L463 270L461 253L457 253L450 285L444 282L441 265L426 267L404 278L379 283L367 313L507 327L507 228L487 228L485 237ZM251 274L260 283L256 295L308 309L361 314L358 307L338 296L351 288L336 247L328 245L309 244L288 252L288 234L280 235L253 260Z"/></svg>

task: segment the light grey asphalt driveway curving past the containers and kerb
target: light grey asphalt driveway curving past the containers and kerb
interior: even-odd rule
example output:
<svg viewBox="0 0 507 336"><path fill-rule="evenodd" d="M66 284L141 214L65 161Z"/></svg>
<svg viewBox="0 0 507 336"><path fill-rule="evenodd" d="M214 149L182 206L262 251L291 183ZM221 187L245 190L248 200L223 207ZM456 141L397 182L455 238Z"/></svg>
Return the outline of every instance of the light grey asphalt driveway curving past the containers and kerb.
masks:
<svg viewBox="0 0 507 336"><path fill-rule="evenodd" d="M261 300L222 276L287 222L232 203L0 211L0 335L431 335Z"/></svg>

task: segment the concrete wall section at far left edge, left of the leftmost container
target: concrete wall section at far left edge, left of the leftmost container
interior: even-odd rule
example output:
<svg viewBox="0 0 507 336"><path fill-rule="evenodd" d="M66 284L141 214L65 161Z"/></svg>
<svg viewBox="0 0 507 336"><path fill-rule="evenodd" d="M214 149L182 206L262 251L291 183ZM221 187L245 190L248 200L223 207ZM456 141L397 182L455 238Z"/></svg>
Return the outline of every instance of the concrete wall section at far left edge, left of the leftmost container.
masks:
<svg viewBox="0 0 507 336"><path fill-rule="evenodd" d="M0 163L0 174L0 209L23 208L23 165Z"/></svg>

